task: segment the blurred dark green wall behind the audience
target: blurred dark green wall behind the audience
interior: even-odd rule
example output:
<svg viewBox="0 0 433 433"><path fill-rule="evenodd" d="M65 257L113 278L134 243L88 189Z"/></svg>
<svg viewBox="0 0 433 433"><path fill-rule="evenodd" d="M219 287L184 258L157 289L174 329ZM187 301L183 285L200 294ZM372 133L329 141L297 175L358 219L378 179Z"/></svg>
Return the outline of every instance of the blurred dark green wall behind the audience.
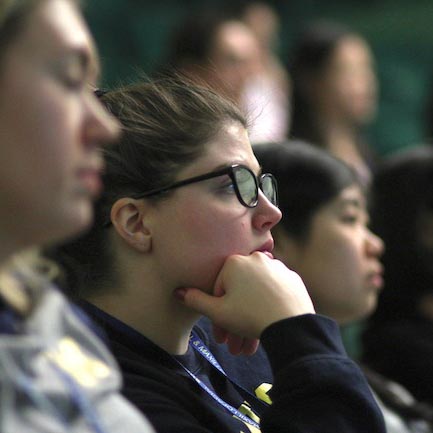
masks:
<svg viewBox="0 0 433 433"><path fill-rule="evenodd" d="M361 32L376 56L381 85L370 141L382 154L423 141L423 110L433 78L432 0L291 0L269 2L282 20L284 60L305 21L326 17ZM86 15L104 68L103 84L116 85L147 73L163 59L176 21L199 5L221 1L88 0Z"/></svg>

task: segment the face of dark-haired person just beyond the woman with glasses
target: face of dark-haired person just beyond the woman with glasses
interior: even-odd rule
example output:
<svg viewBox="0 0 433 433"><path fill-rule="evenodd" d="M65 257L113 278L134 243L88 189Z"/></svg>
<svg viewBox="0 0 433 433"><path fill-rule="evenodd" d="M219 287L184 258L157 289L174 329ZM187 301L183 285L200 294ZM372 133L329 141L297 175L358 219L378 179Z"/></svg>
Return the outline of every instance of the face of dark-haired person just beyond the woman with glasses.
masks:
<svg viewBox="0 0 433 433"><path fill-rule="evenodd" d="M383 243L367 223L364 195L350 186L317 210L305 241L278 257L300 274L316 311L339 323L369 314L383 285Z"/></svg>

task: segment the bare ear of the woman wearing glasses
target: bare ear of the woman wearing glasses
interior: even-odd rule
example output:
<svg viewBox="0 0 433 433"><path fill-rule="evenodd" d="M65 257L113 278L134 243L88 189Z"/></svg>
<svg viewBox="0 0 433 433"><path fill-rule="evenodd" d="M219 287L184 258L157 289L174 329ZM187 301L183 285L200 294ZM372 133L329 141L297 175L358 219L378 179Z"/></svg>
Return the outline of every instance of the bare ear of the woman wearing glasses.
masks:
<svg viewBox="0 0 433 433"><path fill-rule="evenodd" d="M136 251L147 253L152 247L152 233L146 224L149 204L123 197L111 207L111 222L119 236Z"/></svg>

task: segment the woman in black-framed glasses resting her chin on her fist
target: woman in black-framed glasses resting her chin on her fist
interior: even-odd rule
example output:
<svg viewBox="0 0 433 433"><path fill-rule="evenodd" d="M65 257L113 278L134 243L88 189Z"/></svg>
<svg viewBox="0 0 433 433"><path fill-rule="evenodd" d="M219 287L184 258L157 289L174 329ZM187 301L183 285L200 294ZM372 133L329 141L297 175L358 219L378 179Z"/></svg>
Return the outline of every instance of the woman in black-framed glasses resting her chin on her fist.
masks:
<svg viewBox="0 0 433 433"><path fill-rule="evenodd" d="M179 78L102 100L124 134L105 149L92 230L52 254L79 271L65 285L104 329L125 395L158 432L384 431L335 323L273 259L276 182L239 110ZM233 353L261 338L269 394L272 372L260 380L255 357L225 374L225 346L197 325L203 312ZM242 374L269 383L255 393Z"/></svg>

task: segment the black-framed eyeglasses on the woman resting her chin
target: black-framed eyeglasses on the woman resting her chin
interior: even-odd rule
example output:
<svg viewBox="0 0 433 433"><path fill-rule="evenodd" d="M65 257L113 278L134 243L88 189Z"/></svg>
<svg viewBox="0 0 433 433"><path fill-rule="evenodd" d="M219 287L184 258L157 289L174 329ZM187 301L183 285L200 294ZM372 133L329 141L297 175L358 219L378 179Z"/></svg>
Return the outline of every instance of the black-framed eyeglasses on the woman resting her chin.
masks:
<svg viewBox="0 0 433 433"><path fill-rule="evenodd" d="M230 176L230 179L233 182L236 197L243 206L248 208L257 206L259 201L259 188L263 191L264 196L274 206L278 206L278 185L275 177L270 173L264 173L257 177L248 167L245 167L241 164L234 164L218 171L212 171L200 176L184 179L164 188L158 188L147 191L143 194L134 195L134 198L140 199L164 194L168 191L171 191L172 189L181 188L182 186L201 182L203 180L213 179L214 177L223 175Z"/></svg>

